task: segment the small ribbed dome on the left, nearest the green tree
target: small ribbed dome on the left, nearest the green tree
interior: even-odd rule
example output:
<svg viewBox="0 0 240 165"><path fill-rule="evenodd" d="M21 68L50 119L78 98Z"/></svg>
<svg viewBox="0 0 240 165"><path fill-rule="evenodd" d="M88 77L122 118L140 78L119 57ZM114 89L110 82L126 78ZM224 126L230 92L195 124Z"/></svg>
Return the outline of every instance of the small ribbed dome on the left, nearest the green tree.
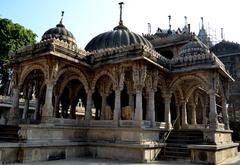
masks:
<svg viewBox="0 0 240 165"><path fill-rule="evenodd" d="M60 21L56 27L47 30L42 36L42 41L52 38L57 38L69 44L76 45L76 40L73 34L65 28L65 26L62 24L62 21Z"/></svg>

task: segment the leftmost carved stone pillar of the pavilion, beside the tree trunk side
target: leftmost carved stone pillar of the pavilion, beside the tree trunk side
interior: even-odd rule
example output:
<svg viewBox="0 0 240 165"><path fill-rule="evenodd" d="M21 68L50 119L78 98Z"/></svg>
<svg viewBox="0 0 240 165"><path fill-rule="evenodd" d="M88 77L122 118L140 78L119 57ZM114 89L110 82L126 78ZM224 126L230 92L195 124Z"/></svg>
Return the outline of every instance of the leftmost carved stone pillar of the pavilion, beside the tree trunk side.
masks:
<svg viewBox="0 0 240 165"><path fill-rule="evenodd" d="M13 86L13 103L9 111L8 125L17 125L19 123L19 87Z"/></svg>

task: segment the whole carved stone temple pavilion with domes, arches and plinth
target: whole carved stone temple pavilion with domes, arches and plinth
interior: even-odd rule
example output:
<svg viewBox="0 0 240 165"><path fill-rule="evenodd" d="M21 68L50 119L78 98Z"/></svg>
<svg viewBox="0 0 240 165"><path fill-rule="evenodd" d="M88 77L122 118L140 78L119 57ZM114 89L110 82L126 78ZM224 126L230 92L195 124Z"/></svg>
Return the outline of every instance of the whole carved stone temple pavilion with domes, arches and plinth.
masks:
<svg viewBox="0 0 240 165"><path fill-rule="evenodd" d="M186 145L193 163L217 164L237 154L226 107L233 79L190 29L141 36L120 16L113 30L79 49L61 20L39 43L11 54L10 65L7 124L18 126L19 141L0 146L3 163L164 159L168 138L179 132L200 133Z"/></svg>

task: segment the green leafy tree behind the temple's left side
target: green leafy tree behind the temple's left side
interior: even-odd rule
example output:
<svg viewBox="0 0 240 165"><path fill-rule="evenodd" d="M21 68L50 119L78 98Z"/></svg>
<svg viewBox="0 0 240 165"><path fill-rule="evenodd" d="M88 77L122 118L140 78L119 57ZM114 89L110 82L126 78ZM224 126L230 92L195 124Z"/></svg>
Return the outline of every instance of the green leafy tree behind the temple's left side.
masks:
<svg viewBox="0 0 240 165"><path fill-rule="evenodd" d="M37 35L17 23L0 18L0 94L6 94L9 85L8 52L36 42Z"/></svg>

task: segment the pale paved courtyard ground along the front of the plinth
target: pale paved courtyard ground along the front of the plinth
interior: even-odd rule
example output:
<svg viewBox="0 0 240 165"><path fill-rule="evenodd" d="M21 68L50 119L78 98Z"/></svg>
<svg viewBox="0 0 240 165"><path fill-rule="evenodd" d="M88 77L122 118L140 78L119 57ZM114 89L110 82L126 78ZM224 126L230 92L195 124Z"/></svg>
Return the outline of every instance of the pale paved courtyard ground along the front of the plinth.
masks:
<svg viewBox="0 0 240 165"><path fill-rule="evenodd" d="M11 165L20 165L21 163L14 163ZM126 163L113 160L104 160L104 159L89 159L89 158L78 158L72 160L55 160L55 161L44 161L36 163L26 163L25 165L144 165L141 163ZM189 161L156 161L148 163L150 165L190 165ZM237 157L227 160L221 165L240 165L240 153Z"/></svg>

